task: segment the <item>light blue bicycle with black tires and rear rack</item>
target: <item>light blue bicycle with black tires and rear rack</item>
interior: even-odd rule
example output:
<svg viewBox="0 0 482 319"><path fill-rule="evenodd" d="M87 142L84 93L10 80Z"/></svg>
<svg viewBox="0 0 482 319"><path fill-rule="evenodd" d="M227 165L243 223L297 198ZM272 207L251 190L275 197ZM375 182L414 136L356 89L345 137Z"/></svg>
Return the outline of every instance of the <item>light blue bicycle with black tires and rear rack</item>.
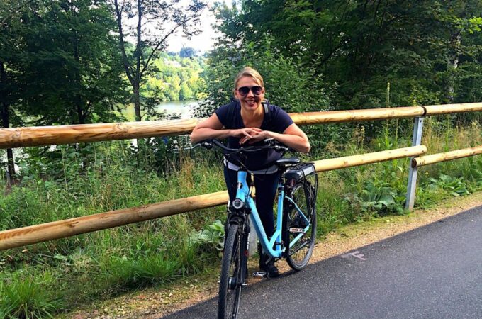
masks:
<svg viewBox="0 0 482 319"><path fill-rule="evenodd" d="M200 144L208 149L213 145L218 147L227 159L235 159L233 155L240 158L236 159L236 164L240 164L236 198L228 204L228 235L225 237L218 297L218 318L237 318L241 290L247 279L250 233L248 216L252 216L254 230L263 251L267 252L269 257L284 257L292 269L303 269L308 264L315 246L318 178L312 163L303 163L296 157L276 161L276 167L284 174L278 184L276 230L269 239L247 182L248 173L262 174L265 171L250 171L242 163L242 159L250 152L267 148L283 153L290 149L273 139L265 140L261 146L239 149L226 147L219 140L206 140ZM313 178L313 181L309 178Z"/></svg>

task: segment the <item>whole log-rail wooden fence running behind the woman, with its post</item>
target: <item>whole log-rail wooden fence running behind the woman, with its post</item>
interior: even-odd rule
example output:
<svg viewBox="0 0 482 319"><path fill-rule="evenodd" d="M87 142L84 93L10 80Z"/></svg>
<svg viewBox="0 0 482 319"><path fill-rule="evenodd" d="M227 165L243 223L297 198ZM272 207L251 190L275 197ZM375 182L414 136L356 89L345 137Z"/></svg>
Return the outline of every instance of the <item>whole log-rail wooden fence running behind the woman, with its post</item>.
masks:
<svg viewBox="0 0 482 319"><path fill-rule="evenodd" d="M482 103L446 104L433 106L412 106L400 108L373 108L351 111L325 111L310 113L291 113L291 118L298 125L313 125L323 123L342 123L349 121L373 121L391 118L422 118L439 114L482 111ZM102 140L123 140L130 138L148 138L153 136L180 135L190 133L196 123L202 120L175 120L175 121L150 121L129 123L103 123L84 125L58 125L30 128L4 128L0 129L0 148L26 147L39 145L60 145L76 142L96 142ZM420 128L421 134L421 128ZM418 139L420 144L420 138ZM412 168L450 159L467 157L482 153L482 147L473 147L466 150L427 155L424 145L414 145L396 150L373 152L364 155L353 155L334 159L315 161L317 172L354 167L364 164L383 162L391 159L413 157ZM413 188L415 184L410 185ZM218 191L212 194L203 194L164 201L135 208L125 208L118 211L109 211L79 218L58 220L52 223L31 225L23 228L4 230L0 232L0 250L21 247L36 242L45 242L58 238L70 237L96 230L118 227L143 220L172 216L179 213L196 211L225 204L228 201L227 191Z"/></svg>

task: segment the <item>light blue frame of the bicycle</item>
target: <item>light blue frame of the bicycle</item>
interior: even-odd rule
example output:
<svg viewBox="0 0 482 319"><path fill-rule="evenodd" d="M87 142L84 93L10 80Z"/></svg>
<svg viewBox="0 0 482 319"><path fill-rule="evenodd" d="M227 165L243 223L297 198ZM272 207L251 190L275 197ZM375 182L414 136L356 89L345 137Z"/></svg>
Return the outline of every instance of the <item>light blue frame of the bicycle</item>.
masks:
<svg viewBox="0 0 482 319"><path fill-rule="evenodd" d="M278 184L278 216L276 218L276 230L274 231L271 240L268 240L268 236L266 235L266 231L264 231L263 224L261 223L261 218L259 218L259 213L256 209L256 204L254 203L253 198L250 196L250 187L247 186L247 172L246 171L238 171L237 172L237 191L236 191L236 198L240 199L245 205L251 209L251 216L254 222L254 229L259 237L259 242L263 247L263 251L267 252L271 257L280 258L285 250L284 247L281 245L281 231L283 228L283 199L287 198L288 201L293 203L296 208L296 211L300 213L304 220L306 220L307 226L303 229L303 233L298 234L298 236L294 237L293 240L289 243L289 247L293 247L293 245L300 240L304 233L308 231L310 228L310 220L306 218L305 214L301 209L296 205L292 198L288 196L284 196L284 187L282 184L282 180L280 178Z"/></svg>

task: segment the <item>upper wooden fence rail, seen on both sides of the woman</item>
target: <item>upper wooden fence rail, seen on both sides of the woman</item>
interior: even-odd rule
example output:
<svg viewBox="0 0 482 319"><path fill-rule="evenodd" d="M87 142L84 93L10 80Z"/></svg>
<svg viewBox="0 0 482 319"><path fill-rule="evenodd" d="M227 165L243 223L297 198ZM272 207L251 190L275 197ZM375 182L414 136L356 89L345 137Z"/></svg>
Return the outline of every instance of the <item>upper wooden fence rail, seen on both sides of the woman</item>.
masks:
<svg viewBox="0 0 482 319"><path fill-rule="evenodd" d="M482 103L371 108L365 110L291 113L290 115L298 125L310 125L349 121L373 121L388 118L410 118L415 116L432 116L473 111L482 111ZM0 149L187 134L191 132L198 121L201 120L189 119L1 128Z"/></svg>

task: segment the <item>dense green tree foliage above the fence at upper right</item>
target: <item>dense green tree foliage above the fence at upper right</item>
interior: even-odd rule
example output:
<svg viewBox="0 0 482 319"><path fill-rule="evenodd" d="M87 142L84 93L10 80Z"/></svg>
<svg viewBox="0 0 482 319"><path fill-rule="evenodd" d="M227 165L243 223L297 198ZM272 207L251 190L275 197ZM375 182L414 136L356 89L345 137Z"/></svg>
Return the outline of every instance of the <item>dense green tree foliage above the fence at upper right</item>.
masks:
<svg viewBox="0 0 482 319"><path fill-rule="evenodd" d="M481 99L482 1L240 1L218 6L220 45L274 50L337 83L338 108ZM469 87L468 87L469 86ZM414 102L415 101L415 102Z"/></svg>

